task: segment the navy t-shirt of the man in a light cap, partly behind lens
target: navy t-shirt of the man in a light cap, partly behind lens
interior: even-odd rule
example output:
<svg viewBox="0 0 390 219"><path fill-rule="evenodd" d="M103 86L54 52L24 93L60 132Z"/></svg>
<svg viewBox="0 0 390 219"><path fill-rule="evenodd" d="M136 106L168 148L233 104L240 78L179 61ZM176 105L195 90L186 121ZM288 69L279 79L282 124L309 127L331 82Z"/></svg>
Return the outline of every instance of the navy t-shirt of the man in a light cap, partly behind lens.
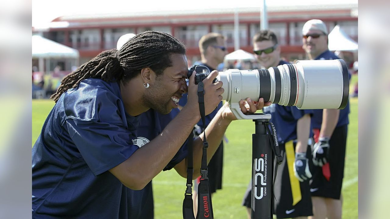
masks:
<svg viewBox="0 0 390 219"><path fill-rule="evenodd" d="M321 55L319 55L315 60L334 60L334 59L340 59L340 58L337 57L335 53L326 50ZM351 79L351 75L349 75L349 79ZM347 102L347 106L344 109L340 109L339 121L337 122L336 127L346 125L349 123L348 114L349 114L349 101ZM323 116L323 109L313 109L313 117L312 117L313 128L321 129L322 116Z"/></svg>

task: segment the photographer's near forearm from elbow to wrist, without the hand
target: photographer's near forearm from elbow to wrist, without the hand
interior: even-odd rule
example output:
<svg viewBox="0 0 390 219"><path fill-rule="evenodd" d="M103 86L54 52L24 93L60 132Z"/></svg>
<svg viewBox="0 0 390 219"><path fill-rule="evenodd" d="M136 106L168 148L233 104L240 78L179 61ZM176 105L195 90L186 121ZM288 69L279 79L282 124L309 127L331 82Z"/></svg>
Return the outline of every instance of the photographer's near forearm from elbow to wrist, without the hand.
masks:
<svg viewBox="0 0 390 219"><path fill-rule="evenodd" d="M110 172L131 189L142 189L160 173L187 139L199 115L183 109L152 141Z"/></svg>

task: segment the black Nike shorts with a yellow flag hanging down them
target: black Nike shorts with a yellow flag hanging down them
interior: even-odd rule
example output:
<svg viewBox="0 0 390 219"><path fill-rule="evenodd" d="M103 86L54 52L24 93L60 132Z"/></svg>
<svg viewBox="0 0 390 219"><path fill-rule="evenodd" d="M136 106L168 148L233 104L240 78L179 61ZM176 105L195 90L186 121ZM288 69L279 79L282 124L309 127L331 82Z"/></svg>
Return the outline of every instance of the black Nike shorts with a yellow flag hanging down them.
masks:
<svg viewBox="0 0 390 219"><path fill-rule="evenodd" d="M278 165L278 173L274 185L276 198L276 201L274 202L274 214L276 214L278 219L312 216L313 209L309 182L308 180L300 182L294 175L293 164L295 161L295 143L289 141L286 144L279 144L279 146L283 162ZM287 157L286 149L293 154ZM307 148L307 156L310 163L312 157L310 147ZM288 158L290 159L287 160ZM291 170L289 171L290 167ZM249 185L243 199L243 206L248 208L251 207L251 189L252 186Z"/></svg>

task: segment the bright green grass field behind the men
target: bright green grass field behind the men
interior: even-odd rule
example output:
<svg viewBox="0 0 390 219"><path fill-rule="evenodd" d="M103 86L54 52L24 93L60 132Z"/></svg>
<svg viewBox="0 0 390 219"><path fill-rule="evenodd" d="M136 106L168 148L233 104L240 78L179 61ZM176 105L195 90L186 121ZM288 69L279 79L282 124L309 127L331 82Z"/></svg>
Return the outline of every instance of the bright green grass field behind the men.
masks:
<svg viewBox="0 0 390 219"><path fill-rule="evenodd" d="M344 219L358 218L358 99L351 98L351 114L347 139L346 167L342 194ZM32 101L32 144L43 122L53 107L49 100ZM246 219L241 201L251 177L252 134L251 120L234 121L226 136L224 148L223 189L213 196L214 215L217 219ZM181 219L186 180L174 170L160 173L153 180L155 218ZM169 200L169 201L168 201Z"/></svg>

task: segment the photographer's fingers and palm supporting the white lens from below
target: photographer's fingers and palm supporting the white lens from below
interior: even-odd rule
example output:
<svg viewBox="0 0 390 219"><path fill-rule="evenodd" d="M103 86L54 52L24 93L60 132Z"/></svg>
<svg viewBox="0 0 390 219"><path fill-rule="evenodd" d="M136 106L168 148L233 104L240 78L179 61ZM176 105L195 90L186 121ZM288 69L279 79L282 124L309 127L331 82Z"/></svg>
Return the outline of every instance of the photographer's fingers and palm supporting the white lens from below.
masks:
<svg viewBox="0 0 390 219"><path fill-rule="evenodd" d="M259 99L259 101L252 101L248 97L246 98L245 101L241 100L239 102L240 109L244 114L255 113L257 110L260 110L264 106L269 106L269 105L271 105L271 102L264 102L264 99L262 97ZM237 120L237 117L230 110L228 102L226 102L225 105L223 106L222 117L230 121Z"/></svg>

